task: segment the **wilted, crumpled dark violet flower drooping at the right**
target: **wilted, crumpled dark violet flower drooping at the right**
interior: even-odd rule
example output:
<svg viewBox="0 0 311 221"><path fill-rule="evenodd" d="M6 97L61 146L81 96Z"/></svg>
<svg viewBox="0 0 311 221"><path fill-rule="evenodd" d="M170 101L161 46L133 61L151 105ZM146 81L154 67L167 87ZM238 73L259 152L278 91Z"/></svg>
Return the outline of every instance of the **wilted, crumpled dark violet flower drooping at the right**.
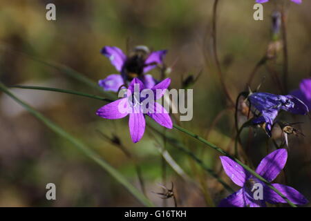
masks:
<svg viewBox="0 0 311 221"><path fill-rule="evenodd" d="M308 114L308 107L292 95L273 95L270 93L252 93L248 96L252 107L261 114L253 119L254 124L265 124L265 131L271 137L272 125L279 111L288 111L298 115Z"/></svg>

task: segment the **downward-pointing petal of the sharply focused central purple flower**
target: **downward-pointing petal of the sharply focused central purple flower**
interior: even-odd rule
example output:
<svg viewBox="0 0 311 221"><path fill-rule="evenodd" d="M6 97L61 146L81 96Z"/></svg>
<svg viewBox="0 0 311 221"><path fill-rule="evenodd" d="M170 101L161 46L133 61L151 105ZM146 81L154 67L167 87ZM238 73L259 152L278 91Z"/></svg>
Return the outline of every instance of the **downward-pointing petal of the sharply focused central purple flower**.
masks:
<svg viewBox="0 0 311 221"><path fill-rule="evenodd" d="M138 108L135 108L136 110L133 110L133 113L129 114L129 131L134 143L137 143L142 139L144 128L146 127L144 114L141 111L138 111Z"/></svg>

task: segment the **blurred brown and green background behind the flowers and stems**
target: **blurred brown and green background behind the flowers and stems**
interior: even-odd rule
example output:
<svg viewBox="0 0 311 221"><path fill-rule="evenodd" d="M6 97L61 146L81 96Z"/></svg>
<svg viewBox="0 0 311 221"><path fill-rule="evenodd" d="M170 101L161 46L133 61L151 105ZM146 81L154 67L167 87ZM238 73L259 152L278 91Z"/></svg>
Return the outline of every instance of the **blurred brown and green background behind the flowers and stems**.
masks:
<svg viewBox="0 0 311 221"><path fill-rule="evenodd" d="M280 0L281 1L281 0ZM218 7L218 55L229 94L236 99L254 66L265 55L271 41L271 15L277 3L264 4L264 20L254 21L252 0L223 0ZM55 3L57 20L46 20L46 4ZM67 88L100 95L98 90L68 77L62 70L38 61L64 64L97 81L116 70L100 50L117 46L126 51L136 45L169 50L165 63L171 67L173 88L182 79L198 76L194 88L194 118L182 126L232 152L234 111L225 111L227 102L220 87L211 53L211 0L77 0L0 1L0 79L7 86L17 84ZM288 8L289 88L311 74L311 2ZM270 68L269 68L270 67ZM271 79L271 68L281 76L282 54L258 69L252 88L280 93ZM159 77L159 71L153 70ZM263 77L265 80L263 81ZM104 102L39 90L12 89L54 122L86 142L140 189L133 160L108 142L101 133L118 137L142 170L148 197L158 206L172 206L161 200L158 184L175 184L178 206L212 206L229 193L202 171L188 155L174 148L150 128L138 144L129 137L127 119L107 120L95 115ZM0 206L142 206L100 166L74 146L55 135L35 117L0 94ZM281 116L288 122L304 122L299 128L305 137L290 136L288 163L277 182L287 183L311 200L310 119ZM219 119L219 120L218 120ZM101 133L100 133L100 132ZM180 140L189 151L214 169L234 189L221 171L218 153L178 131L163 131ZM243 144L254 165L266 155L267 142L261 130L247 130ZM276 136L276 140L279 137ZM278 140L280 141L280 140ZM167 148L189 180L182 179L164 163L159 147ZM57 200L46 200L46 184L57 186ZM307 204L305 206L310 206Z"/></svg>

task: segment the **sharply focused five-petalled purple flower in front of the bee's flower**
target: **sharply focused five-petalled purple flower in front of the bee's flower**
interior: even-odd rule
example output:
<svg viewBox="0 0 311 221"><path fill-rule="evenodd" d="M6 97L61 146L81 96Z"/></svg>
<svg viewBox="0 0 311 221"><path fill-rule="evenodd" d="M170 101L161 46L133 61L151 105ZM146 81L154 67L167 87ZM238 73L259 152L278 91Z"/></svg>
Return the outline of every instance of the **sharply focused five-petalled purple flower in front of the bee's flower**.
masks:
<svg viewBox="0 0 311 221"><path fill-rule="evenodd" d="M169 113L156 102L164 95L164 91L170 83L171 79L167 78L148 89L145 88L140 79L135 77L131 81L124 98L102 106L96 114L106 119L120 119L129 115L129 131L134 143L139 142L144 135L145 115L151 117L161 126L173 128ZM152 93L151 97L149 97L149 92ZM146 102L147 99L149 102Z"/></svg>

